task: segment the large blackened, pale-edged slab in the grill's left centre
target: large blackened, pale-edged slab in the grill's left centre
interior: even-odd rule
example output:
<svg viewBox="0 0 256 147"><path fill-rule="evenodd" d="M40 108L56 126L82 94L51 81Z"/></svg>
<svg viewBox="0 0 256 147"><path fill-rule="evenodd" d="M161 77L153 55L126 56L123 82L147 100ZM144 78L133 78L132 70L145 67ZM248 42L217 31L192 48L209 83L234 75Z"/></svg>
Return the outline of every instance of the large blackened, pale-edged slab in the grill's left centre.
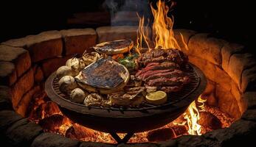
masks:
<svg viewBox="0 0 256 147"><path fill-rule="evenodd" d="M108 94L127 84L129 72L125 66L111 58L100 58L84 68L75 79L86 90Z"/></svg>

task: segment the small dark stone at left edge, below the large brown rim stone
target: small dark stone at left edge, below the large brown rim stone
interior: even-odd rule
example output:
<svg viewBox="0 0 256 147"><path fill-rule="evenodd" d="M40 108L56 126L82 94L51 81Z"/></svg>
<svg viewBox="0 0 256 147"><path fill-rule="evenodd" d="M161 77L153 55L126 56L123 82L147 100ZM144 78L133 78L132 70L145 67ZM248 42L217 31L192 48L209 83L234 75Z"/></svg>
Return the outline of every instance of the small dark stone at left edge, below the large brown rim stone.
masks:
<svg viewBox="0 0 256 147"><path fill-rule="evenodd" d="M1 85L13 85L17 80L15 65L12 62L0 62L0 82Z"/></svg>

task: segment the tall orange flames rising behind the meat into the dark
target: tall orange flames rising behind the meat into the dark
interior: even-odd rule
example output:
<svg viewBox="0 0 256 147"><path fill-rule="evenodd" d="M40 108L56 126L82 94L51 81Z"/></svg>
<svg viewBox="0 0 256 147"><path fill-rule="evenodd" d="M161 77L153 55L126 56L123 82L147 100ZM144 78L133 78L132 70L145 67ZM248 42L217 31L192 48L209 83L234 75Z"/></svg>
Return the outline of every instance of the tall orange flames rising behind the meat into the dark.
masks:
<svg viewBox="0 0 256 147"><path fill-rule="evenodd" d="M153 43L154 48L162 49L180 49L178 42L176 41L173 33L173 18L167 16L169 7L165 4L164 1L159 0L156 4L157 9L154 9L151 4L151 11L153 13L153 26L152 32L153 37L155 37ZM173 4L170 6L173 7ZM151 49L149 43L151 42L151 37L148 35L148 32L145 33L144 20L145 18L139 17L139 29L137 34L137 51L142 48L142 40L145 40L145 43L148 46L148 49Z"/></svg>

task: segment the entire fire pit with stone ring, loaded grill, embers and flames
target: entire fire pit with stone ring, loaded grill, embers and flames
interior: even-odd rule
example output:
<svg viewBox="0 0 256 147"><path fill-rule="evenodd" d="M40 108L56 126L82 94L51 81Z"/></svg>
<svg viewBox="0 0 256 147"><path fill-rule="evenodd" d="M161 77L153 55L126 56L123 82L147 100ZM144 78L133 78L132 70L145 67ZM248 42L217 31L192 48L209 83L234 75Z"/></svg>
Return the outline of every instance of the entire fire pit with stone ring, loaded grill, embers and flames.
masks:
<svg viewBox="0 0 256 147"><path fill-rule="evenodd" d="M137 13L137 26L2 42L1 141L154 147L249 140L249 146L256 130L255 56L238 43L173 29L167 4L151 5L152 23Z"/></svg>

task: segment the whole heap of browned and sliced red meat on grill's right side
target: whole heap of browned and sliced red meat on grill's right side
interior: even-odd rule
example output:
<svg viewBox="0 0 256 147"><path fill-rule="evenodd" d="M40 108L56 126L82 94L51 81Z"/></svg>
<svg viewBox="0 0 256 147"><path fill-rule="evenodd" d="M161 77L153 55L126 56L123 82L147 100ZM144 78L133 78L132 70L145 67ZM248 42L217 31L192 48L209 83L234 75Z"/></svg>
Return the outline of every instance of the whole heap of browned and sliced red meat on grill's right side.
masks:
<svg viewBox="0 0 256 147"><path fill-rule="evenodd" d="M136 78L145 82L147 87L156 87L167 93L177 92L190 82L182 71L188 58L178 49L153 49L139 57L138 62L144 65L136 73Z"/></svg>

